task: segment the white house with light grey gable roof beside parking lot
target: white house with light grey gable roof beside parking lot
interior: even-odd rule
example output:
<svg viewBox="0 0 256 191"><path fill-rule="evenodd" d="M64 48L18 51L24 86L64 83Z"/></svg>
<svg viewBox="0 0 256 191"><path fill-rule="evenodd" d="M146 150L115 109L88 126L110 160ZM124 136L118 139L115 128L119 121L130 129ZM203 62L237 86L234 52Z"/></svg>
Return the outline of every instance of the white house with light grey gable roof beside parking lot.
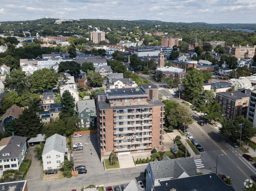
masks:
<svg viewBox="0 0 256 191"><path fill-rule="evenodd" d="M42 153L43 170L59 169L60 163L64 161L64 155L68 155L65 136L54 134L46 138Z"/></svg>

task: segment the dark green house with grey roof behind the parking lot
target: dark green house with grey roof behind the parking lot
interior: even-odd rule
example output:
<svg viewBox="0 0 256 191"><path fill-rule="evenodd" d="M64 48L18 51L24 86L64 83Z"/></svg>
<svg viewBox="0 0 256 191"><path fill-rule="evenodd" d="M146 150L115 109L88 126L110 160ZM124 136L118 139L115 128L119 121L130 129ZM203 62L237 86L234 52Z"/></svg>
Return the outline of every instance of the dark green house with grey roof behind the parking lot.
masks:
<svg viewBox="0 0 256 191"><path fill-rule="evenodd" d="M82 127L91 127L96 122L95 100L82 100L76 102L77 116Z"/></svg>

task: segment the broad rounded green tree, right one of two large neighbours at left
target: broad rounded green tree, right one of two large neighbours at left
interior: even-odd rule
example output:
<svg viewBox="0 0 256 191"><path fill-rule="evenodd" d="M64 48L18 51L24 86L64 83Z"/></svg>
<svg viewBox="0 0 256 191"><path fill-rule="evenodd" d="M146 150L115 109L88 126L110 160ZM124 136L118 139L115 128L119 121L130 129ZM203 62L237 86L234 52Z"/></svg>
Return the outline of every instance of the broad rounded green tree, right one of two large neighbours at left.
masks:
<svg viewBox="0 0 256 191"><path fill-rule="evenodd" d="M56 73L52 73L50 69L43 68L33 73L31 79L32 91L39 90L44 92L46 88L52 89L57 84L58 77Z"/></svg>

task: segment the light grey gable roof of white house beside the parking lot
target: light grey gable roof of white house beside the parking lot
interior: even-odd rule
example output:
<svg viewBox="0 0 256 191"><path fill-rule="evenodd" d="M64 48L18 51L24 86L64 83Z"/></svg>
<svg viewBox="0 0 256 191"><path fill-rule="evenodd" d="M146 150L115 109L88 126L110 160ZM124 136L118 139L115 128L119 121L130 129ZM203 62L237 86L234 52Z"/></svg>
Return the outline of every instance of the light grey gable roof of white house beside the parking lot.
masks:
<svg viewBox="0 0 256 191"><path fill-rule="evenodd" d="M65 154L66 150L66 137L58 134L54 134L45 140L45 147L42 156L50 151L58 151Z"/></svg>

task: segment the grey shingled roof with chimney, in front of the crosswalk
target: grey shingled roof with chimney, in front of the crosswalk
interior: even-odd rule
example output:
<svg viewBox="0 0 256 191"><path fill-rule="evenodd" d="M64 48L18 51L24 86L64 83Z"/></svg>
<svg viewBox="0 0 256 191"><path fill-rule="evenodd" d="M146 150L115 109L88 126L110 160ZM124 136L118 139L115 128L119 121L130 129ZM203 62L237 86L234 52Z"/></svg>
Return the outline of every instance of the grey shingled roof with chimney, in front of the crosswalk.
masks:
<svg viewBox="0 0 256 191"><path fill-rule="evenodd" d="M179 178L184 172L189 176L197 175L197 167L195 166L193 157L161 161L155 160L154 162L149 162L148 165L152 169L155 180L171 177Z"/></svg>

